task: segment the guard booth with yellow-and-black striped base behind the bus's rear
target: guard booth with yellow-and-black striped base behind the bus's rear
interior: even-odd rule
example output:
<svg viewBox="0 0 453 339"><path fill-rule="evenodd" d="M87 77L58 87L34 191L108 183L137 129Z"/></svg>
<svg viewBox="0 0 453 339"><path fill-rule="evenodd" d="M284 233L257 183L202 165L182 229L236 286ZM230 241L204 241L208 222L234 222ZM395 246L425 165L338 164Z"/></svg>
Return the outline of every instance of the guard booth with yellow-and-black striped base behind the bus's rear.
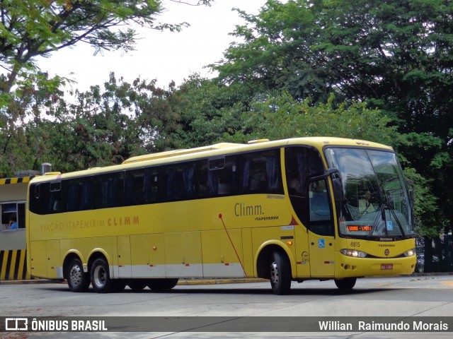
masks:
<svg viewBox="0 0 453 339"><path fill-rule="evenodd" d="M37 174L22 171L0 179L0 280L30 279L25 266L25 203L28 182Z"/></svg>

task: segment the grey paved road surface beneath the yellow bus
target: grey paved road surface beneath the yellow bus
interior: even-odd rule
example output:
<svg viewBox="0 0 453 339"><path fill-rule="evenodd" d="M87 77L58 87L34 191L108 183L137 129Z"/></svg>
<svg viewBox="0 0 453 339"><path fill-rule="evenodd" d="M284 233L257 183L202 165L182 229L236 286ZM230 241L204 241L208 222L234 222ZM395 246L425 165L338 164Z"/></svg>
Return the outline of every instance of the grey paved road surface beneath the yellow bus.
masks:
<svg viewBox="0 0 453 339"><path fill-rule="evenodd" d="M352 292L341 292L333 281L307 281L293 283L292 292L275 296L269 283L231 283L219 285L178 285L168 292L139 292L98 295L92 290L86 293L70 292L65 284L1 285L0 309L4 316L165 316L165 317L243 317L252 319L288 316L371 317L379 321L382 316L398 319L422 316L453 316L453 275L412 276L405 278L367 278L357 280ZM270 317L270 318L265 318ZM174 319L172 319L174 320ZM352 333L316 332L201 332L188 333L178 329L165 333L132 333L129 338L452 338L453 318L449 318L449 332L432 333ZM248 321L248 318L246 318ZM263 323L257 323L257 326ZM1 335L4 333L0 333ZM25 338L50 338L56 333L28 333ZM59 338L124 338L125 333L58 333ZM88 335L91 334L91 335ZM8 334L6 338L23 338Z"/></svg>

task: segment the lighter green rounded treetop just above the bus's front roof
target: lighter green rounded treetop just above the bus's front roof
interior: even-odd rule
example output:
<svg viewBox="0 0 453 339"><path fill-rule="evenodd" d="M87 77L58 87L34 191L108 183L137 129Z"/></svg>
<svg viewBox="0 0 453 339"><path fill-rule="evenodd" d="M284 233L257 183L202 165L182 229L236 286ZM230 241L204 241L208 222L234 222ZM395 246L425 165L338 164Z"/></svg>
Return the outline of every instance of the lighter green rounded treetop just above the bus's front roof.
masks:
<svg viewBox="0 0 453 339"><path fill-rule="evenodd" d="M294 138L297 136L337 136L359 138L387 145L398 145L403 138L391 121L377 109L367 109L362 102L313 105L311 100L294 100L289 93L268 93L251 103L242 117L238 132L246 138Z"/></svg>

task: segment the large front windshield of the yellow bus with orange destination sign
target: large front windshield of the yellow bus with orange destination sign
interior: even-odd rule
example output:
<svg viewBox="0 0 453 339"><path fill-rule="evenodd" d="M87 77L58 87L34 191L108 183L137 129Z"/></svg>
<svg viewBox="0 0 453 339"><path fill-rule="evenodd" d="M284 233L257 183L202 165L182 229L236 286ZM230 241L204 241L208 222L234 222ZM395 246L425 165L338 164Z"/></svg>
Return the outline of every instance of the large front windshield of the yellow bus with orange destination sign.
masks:
<svg viewBox="0 0 453 339"><path fill-rule="evenodd" d="M344 201L338 202L339 233L344 237L414 237L411 201L396 155L384 150L327 148L337 168Z"/></svg>

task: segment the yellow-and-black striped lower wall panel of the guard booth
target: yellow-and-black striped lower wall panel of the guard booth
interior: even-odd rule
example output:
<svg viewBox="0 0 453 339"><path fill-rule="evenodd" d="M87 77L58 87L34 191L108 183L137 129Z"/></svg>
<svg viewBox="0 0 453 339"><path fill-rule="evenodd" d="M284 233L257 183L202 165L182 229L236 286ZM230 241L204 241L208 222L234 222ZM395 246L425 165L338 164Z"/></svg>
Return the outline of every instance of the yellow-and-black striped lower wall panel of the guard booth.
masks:
<svg viewBox="0 0 453 339"><path fill-rule="evenodd" d="M0 251L0 280L28 280L25 249Z"/></svg>

